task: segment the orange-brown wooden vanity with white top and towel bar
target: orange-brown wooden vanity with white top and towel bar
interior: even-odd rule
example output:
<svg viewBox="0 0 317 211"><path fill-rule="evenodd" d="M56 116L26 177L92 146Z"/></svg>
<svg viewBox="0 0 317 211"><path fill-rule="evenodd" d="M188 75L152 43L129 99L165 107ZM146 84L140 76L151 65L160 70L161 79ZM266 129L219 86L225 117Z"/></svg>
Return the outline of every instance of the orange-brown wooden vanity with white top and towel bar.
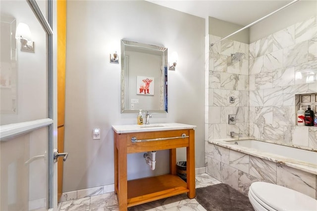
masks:
<svg viewBox="0 0 317 211"><path fill-rule="evenodd" d="M114 192L120 211L182 193L195 198L195 128L179 123L112 126ZM176 175L176 148L180 147L186 147L187 183ZM169 150L169 174L128 181L127 154L158 150Z"/></svg>

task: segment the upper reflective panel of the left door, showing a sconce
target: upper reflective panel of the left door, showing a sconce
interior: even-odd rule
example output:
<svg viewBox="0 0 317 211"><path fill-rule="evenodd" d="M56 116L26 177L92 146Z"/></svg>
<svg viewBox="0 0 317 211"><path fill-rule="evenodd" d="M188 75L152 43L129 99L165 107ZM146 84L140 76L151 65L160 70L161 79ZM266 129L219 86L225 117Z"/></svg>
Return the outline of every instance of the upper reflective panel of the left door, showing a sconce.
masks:
<svg viewBox="0 0 317 211"><path fill-rule="evenodd" d="M48 34L28 2L0 0L0 125L49 117ZM20 23L29 26L34 53L21 51Z"/></svg>

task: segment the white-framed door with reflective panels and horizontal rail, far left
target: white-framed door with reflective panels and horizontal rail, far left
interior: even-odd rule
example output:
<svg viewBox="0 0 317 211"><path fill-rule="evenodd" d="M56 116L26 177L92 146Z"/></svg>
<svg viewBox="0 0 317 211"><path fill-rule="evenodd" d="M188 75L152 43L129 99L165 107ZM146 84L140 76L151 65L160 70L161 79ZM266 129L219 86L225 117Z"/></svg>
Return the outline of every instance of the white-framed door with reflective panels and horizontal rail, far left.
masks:
<svg viewBox="0 0 317 211"><path fill-rule="evenodd" d="M1 211L57 210L53 3L0 1Z"/></svg>

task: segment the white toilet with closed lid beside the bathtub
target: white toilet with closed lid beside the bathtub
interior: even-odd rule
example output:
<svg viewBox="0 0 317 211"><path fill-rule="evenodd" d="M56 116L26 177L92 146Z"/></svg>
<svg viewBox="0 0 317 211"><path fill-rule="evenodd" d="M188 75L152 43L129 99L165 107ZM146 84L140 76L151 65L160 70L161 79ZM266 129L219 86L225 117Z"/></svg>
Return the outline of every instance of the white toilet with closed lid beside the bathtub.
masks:
<svg viewBox="0 0 317 211"><path fill-rule="evenodd" d="M256 211L317 211L317 200L267 182L252 183L248 196Z"/></svg>

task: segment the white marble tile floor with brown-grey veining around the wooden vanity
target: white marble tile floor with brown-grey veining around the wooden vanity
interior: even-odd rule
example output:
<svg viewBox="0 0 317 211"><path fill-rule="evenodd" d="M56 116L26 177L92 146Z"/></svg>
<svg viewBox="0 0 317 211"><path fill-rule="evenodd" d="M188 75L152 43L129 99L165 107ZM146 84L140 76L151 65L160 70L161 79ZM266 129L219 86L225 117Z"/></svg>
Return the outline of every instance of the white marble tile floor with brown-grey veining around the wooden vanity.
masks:
<svg viewBox="0 0 317 211"><path fill-rule="evenodd" d="M196 188L221 183L207 173L196 175ZM61 202L58 211L118 211L116 195L111 193ZM196 199L180 194L128 208L128 211L206 211Z"/></svg>

